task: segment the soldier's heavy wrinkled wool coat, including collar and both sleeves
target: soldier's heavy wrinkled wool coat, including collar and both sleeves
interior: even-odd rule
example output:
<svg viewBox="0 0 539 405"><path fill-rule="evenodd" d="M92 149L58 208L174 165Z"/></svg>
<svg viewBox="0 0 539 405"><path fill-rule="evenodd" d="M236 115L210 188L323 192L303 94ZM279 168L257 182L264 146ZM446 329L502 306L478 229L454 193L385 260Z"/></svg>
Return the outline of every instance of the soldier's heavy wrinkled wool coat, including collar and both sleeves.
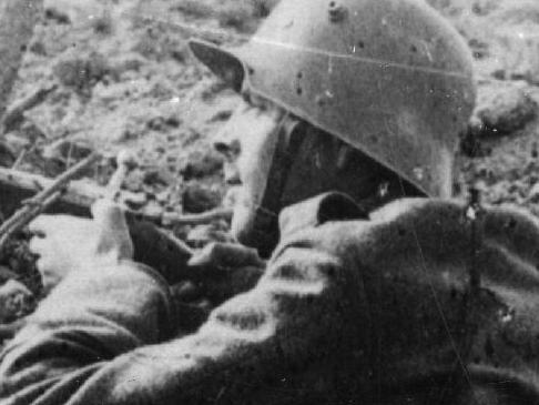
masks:
<svg viewBox="0 0 539 405"><path fill-rule="evenodd" d="M175 335L153 269L73 270L1 355L9 405L539 404L539 224L342 194L283 211L251 290Z"/></svg>

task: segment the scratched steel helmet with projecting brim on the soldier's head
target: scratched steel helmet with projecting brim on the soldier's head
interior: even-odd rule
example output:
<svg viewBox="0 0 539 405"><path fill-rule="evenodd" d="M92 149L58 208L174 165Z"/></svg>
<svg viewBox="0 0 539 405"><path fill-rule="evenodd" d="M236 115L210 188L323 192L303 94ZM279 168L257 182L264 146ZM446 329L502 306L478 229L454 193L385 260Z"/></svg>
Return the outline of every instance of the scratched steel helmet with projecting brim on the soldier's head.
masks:
<svg viewBox="0 0 539 405"><path fill-rule="evenodd" d="M190 45L235 90L338 136L427 195L450 196L476 97L471 52L423 0L282 0L241 47Z"/></svg>

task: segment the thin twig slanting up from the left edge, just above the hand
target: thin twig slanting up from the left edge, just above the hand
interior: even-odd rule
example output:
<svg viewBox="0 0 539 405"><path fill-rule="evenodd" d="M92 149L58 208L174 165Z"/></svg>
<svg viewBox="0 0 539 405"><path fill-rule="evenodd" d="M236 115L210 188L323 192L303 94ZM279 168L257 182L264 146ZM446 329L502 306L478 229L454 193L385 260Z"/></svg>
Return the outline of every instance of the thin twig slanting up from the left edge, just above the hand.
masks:
<svg viewBox="0 0 539 405"><path fill-rule="evenodd" d="M80 172L93 164L99 158L100 155L96 153L91 154L58 176L47 189L24 202L22 209L18 210L10 219L0 225L0 251L11 235L19 232L23 226L29 224L35 216L57 201L64 192L68 183Z"/></svg>

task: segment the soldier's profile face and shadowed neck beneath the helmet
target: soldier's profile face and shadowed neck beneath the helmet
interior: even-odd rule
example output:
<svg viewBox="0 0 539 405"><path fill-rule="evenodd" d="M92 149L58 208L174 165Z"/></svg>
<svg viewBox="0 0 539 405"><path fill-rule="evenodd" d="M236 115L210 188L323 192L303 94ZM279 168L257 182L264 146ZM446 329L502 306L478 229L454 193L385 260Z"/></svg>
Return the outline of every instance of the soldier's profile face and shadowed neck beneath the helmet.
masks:
<svg viewBox="0 0 539 405"><path fill-rule="evenodd" d="M263 239L261 212L276 220L282 207L327 191L359 200L380 182L378 165L322 131L307 131L292 153L284 129L289 121L275 105L243 101L214 140L225 156L225 181L238 188L231 231L242 243L253 246ZM291 162L283 169L286 154Z"/></svg>

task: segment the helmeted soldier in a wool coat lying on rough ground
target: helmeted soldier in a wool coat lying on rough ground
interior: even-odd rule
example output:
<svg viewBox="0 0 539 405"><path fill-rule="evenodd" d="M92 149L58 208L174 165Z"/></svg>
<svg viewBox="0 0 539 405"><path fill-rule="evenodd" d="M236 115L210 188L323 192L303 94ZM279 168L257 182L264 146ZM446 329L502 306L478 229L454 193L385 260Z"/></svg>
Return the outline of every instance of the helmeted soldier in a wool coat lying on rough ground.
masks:
<svg viewBox="0 0 539 405"><path fill-rule="evenodd" d="M216 148L267 265L193 257L225 302L177 334L193 307L132 261L118 207L41 216L62 281L2 354L4 403L539 403L537 221L447 200L475 94L457 32L415 0L283 0L243 48L191 47L244 95Z"/></svg>

